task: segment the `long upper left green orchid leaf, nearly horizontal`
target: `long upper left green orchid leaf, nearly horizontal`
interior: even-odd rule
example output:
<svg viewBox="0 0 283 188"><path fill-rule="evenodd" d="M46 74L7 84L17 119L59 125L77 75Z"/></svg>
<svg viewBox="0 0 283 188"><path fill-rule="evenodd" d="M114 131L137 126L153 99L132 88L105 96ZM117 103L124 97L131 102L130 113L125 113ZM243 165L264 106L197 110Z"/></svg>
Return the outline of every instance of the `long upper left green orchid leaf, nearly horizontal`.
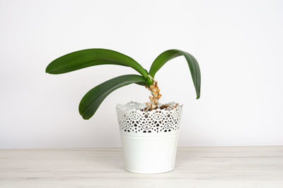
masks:
<svg viewBox="0 0 283 188"><path fill-rule="evenodd" d="M80 70L85 67L106 64L132 67L144 78L148 75L148 72L131 57L120 52L100 48L79 50L63 55L62 57L50 62L50 64L46 67L45 72L50 74L62 74L74 70Z"/></svg>

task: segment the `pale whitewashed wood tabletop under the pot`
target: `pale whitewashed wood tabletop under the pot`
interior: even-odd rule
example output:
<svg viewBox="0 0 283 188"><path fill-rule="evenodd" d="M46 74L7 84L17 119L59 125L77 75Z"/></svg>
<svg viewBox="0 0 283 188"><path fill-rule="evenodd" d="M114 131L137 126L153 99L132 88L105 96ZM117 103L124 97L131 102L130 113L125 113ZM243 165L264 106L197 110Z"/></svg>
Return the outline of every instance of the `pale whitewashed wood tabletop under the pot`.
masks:
<svg viewBox="0 0 283 188"><path fill-rule="evenodd" d="M120 148L0 150L0 187L283 187L283 146L178 148L159 175L123 165Z"/></svg>

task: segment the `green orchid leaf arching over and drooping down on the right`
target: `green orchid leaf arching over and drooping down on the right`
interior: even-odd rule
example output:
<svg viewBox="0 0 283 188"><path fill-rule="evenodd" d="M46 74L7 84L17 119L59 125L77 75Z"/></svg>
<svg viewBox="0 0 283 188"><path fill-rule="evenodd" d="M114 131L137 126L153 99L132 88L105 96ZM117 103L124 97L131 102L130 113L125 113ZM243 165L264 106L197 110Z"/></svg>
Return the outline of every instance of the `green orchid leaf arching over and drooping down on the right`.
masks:
<svg viewBox="0 0 283 188"><path fill-rule="evenodd" d="M195 85L195 92L197 93L197 99L200 98L200 66L197 63L197 60L195 57L190 55L188 52L184 52L181 50L167 50L161 55L158 55L154 62L151 65L151 69L149 70L149 74L151 77L154 77L156 72L166 63L168 60L172 60L175 57L178 57L180 55L185 56L185 60L187 60L187 65L189 65L190 68L190 74L192 75L192 82Z"/></svg>

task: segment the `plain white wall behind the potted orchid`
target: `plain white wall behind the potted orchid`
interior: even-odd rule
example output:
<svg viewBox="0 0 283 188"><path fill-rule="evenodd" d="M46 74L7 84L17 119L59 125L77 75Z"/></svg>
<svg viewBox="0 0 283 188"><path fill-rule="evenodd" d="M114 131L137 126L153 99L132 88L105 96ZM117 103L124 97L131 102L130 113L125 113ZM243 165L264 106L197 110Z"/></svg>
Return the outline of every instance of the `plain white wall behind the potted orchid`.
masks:
<svg viewBox="0 0 283 188"><path fill-rule="evenodd" d="M110 48L149 69L171 48L194 55L195 91L183 57L156 74L161 101L184 104L179 146L283 144L282 1L0 1L0 148L120 147L115 106L148 101L137 84L116 90L89 121L81 97L112 77L101 65L45 74L55 58Z"/></svg>

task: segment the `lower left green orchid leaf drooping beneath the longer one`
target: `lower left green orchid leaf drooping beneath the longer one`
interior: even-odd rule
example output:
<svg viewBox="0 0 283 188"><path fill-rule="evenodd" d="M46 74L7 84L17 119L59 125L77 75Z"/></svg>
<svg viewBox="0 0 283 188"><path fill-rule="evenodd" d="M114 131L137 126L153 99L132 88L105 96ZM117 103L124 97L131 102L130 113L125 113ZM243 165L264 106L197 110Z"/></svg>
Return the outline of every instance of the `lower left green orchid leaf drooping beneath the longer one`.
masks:
<svg viewBox="0 0 283 188"><path fill-rule="evenodd" d="M93 89L87 92L85 96L83 96L83 99L81 99L79 113L84 119L91 118L108 94L115 89L132 83L145 85L146 79L136 74L127 74L109 79L108 81L93 87Z"/></svg>

